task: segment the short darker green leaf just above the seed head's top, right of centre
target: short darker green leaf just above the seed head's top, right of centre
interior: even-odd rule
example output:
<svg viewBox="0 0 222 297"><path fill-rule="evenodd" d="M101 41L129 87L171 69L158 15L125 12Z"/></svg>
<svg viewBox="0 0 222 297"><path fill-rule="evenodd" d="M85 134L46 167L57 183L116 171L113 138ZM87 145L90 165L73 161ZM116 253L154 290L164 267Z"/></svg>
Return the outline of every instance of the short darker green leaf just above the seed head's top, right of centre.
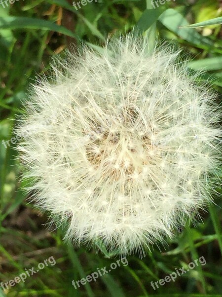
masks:
<svg viewBox="0 0 222 297"><path fill-rule="evenodd" d="M148 28L157 21L161 13L161 8L146 9L135 26L136 32L143 33L147 31Z"/></svg>

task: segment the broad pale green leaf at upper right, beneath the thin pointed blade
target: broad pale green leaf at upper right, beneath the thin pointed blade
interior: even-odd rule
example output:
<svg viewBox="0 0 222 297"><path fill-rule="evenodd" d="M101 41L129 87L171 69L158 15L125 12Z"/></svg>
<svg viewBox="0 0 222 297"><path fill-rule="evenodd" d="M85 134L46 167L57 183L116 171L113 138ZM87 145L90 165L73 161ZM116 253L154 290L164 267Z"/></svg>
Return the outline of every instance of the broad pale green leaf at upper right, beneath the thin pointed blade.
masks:
<svg viewBox="0 0 222 297"><path fill-rule="evenodd" d="M189 25L187 20L184 18L182 14L180 14L177 10L169 8L165 10L158 18L158 20L169 30L176 33L185 41L188 41L198 47L209 47L213 45L213 42L201 36L198 32L196 32L193 28L181 28L182 26Z"/></svg>

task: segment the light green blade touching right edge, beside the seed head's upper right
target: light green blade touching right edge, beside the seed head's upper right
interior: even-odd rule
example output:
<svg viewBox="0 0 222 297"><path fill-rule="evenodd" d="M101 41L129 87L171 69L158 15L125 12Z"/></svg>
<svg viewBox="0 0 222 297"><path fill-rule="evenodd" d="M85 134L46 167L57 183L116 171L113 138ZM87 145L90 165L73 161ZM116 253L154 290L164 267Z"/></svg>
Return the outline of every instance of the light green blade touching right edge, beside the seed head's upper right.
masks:
<svg viewBox="0 0 222 297"><path fill-rule="evenodd" d="M220 70L222 69L222 56L191 61L188 66L193 70Z"/></svg>

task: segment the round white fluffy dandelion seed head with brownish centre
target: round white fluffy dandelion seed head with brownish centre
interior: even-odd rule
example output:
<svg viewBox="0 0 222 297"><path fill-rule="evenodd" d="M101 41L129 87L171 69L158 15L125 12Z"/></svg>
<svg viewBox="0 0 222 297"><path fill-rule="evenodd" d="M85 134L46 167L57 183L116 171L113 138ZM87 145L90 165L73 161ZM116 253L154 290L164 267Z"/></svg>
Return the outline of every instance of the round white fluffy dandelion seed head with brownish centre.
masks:
<svg viewBox="0 0 222 297"><path fill-rule="evenodd" d="M26 102L16 130L23 177L39 207L69 220L75 243L142 251L211 200L215 95L194 83L178 51L146 49L128 35L103 53L69 53Z"/></svg>

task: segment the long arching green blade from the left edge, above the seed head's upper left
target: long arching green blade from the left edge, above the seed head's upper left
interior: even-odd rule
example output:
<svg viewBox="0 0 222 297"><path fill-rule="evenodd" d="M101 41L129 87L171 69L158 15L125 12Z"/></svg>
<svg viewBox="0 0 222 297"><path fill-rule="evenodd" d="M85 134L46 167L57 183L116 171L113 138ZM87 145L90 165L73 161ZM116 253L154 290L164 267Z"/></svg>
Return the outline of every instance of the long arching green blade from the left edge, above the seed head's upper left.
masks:
<svg viewBox="0 0 222 297"><path fill-rule="evenodd" d="M6 16L0 17L0 29L41 29L62 33L76 38L76 35L65 27L58 26L50 21L30 17Z"/></svg>

